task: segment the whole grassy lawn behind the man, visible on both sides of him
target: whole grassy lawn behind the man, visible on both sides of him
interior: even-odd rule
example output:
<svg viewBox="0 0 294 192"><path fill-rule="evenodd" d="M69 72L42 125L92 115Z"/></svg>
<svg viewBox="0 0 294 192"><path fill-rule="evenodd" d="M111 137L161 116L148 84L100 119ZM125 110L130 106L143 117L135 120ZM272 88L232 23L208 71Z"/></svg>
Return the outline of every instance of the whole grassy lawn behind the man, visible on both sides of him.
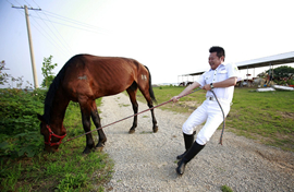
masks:
<svg viewBox="0 0 294 192"><path fill-rule="evenodd" d="M183 89L174 86L154 87L158 104L171 99ZM225 121L226 131L294 152L294 92L254 91L235 88L233 106ZM160 109L191 113L205 100L205 91L198 91ZM138 99L145 101L139 92Z"/></svg>

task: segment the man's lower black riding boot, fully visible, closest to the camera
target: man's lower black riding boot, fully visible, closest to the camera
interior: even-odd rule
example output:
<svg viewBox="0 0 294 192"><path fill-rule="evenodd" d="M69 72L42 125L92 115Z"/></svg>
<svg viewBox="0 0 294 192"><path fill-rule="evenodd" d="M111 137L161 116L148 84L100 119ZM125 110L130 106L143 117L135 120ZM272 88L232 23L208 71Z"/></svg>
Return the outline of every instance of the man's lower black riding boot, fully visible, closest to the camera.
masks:
<svg viewBox="0 0 294 192"><path fill-rule="evenodd" d="M185 171L186 164L193 159L203 148L205 145L199 145L197 142L194 142L192 147L187 151L184 157L177 163L177 168L175 169L179 175L183 175Z"/></svg>

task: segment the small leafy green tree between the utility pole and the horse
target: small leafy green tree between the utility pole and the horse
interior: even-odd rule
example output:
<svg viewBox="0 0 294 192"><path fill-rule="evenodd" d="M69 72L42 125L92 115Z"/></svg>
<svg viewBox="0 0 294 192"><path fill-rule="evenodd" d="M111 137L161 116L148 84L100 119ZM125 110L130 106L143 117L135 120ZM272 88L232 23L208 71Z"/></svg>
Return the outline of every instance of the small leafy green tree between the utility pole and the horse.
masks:
<svg viewBox="0 0 294 192"><path fill-rule="evenodd" d="M42 67L41 67L41 74L44 75L41 86L44 86L44 87L49 87L56 77L53 75L54 73L52 71L58 64L51 63L52 57L53 56L50 56L49 58L44 58L44 62L42 62Z"/></svg>

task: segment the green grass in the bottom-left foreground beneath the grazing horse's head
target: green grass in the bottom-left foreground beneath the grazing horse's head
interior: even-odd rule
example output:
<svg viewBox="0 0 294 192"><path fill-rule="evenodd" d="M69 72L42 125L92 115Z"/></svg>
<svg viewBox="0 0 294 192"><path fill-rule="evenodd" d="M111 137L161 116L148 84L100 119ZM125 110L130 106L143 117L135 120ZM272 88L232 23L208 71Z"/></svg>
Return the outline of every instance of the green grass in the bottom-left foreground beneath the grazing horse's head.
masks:
<svg viewBox="0 0 294 192"><path fill-rule="evenodd" d="M97 103L99 105L100 100ZM64 127L68 130L64 140L84 133L77 104L69 106ZM85 140L82 136L61 144L54 154L44 152L32 158L1 158L0 190L103 191L105 183L111 179L113 161L102 152L83 155Z"/></svg>

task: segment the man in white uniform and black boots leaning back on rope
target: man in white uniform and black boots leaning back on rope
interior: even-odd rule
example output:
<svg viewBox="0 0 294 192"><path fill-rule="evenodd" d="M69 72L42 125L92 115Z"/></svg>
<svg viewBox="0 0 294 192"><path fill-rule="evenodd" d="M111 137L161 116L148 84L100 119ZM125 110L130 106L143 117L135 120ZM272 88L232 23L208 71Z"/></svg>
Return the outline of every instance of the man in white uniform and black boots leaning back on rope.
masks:
<svg viewBox="0 0 294 192"><path fill-rule="evenodd" d="M211 91L215 92L220 105L223 109L224 116L230 111L230 104L233 99L234 85L237 82L238 70L234 64L225 64L224 49L221 47L211 47L209 49L208 62L210 70L205 72L199 80L187 86L180 95L174 96L173 101L177 101L179 97L191 93L196 87L201 87L208 91L207 99L199 106L183 124L183 135L185 143L185 153L179 155L176 172L183 175L186 164L194 158L210 140L215 131L223 121L223 115L220 106ZM205 125L197 134L194 142L194 128L205 122Z"/></svg>

